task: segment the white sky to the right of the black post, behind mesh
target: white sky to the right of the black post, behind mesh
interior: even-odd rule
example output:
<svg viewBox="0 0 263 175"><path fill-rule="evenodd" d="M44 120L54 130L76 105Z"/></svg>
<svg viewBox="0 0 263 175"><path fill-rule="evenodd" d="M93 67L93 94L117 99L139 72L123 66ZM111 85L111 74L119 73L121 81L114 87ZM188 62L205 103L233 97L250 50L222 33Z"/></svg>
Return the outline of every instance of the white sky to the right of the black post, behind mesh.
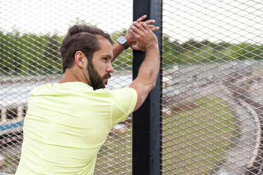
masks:
<svg viewBox="0 0 263 175"><path fill-rule="evenodd" d="M164 9L164 33L176 40L195 38L263 44L261 0L164 0Z"/></svg>

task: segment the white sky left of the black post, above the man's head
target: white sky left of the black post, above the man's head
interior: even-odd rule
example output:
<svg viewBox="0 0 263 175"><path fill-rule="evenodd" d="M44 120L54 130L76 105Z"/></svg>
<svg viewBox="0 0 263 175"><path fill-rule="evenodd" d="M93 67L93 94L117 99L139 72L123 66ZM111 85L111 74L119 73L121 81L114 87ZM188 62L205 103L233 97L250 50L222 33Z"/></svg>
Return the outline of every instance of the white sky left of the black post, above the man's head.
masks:
<svg viewBox="0 0 263 175"><path fill-rule="evenodd" d="M128 28L133 18L133 1L2 0L0 5L0 28L4 31L66 35L71 25L84 21L114 32Z"/></svg>

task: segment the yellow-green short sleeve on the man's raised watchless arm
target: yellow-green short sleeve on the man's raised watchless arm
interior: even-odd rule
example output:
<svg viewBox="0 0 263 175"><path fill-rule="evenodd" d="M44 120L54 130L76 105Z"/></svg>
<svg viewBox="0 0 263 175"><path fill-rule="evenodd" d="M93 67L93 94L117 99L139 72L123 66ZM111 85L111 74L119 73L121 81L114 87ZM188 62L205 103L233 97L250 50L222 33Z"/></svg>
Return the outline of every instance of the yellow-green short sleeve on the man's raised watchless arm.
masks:
<svg viewBox="0 0 263 175"><path fill-rule="evenodd" d="M123 87L111 90L112 94L112 111L111 111L111 128L133 112L137 103L137 92L131 87Z"/></svg>

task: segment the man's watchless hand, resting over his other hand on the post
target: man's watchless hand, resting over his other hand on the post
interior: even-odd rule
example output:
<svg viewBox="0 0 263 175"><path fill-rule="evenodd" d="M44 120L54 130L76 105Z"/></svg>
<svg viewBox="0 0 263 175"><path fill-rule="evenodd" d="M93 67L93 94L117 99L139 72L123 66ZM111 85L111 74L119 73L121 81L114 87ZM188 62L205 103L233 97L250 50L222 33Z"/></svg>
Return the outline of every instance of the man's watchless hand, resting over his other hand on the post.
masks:
<svg viewBox="0 0 263 175"><path fill-rule="evenodd" d="M135 50L146 52L148 49L157 49L158 40L156 35L152 32L149 25L145 22L133 23L130 26L129 32L135 37L135 44L130 47Z"/></svg>

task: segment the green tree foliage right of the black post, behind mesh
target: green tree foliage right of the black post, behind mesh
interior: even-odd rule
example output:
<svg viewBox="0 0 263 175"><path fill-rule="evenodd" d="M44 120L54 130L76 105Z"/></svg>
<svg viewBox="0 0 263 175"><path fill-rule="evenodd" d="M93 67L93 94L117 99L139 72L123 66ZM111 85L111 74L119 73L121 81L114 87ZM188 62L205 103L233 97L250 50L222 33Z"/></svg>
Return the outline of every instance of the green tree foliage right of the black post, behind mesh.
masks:
<svg viewBox="0 0 263 175"><path fill-rule="evenodd" d="M230 44L227 42L214 43L204 40L197 42L188 40L182 44L171 42L170 37L164 36L164 64L207 64L233 60L255 59L263 57L263 46L258 44Z"/></svg>

